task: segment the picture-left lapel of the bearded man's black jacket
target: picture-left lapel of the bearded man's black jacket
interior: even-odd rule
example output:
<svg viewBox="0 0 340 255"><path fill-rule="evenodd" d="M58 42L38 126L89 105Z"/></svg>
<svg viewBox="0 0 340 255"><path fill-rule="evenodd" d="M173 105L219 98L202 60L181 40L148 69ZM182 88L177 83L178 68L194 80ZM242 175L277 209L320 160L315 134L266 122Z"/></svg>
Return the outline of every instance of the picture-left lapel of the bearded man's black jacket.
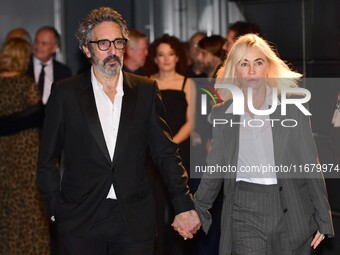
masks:
<svg viewBox="0 0 340 255"><path fill-rule="evenodd" d="M84 78L85 86L78 89L78 98L80 105L83 109L83 113L89 129L96 140L100 150L105 155L106 159L111 162L109 151L106 146L103 130L100 124L96 101L94 98L91 73L88 72Z"/></svg>

